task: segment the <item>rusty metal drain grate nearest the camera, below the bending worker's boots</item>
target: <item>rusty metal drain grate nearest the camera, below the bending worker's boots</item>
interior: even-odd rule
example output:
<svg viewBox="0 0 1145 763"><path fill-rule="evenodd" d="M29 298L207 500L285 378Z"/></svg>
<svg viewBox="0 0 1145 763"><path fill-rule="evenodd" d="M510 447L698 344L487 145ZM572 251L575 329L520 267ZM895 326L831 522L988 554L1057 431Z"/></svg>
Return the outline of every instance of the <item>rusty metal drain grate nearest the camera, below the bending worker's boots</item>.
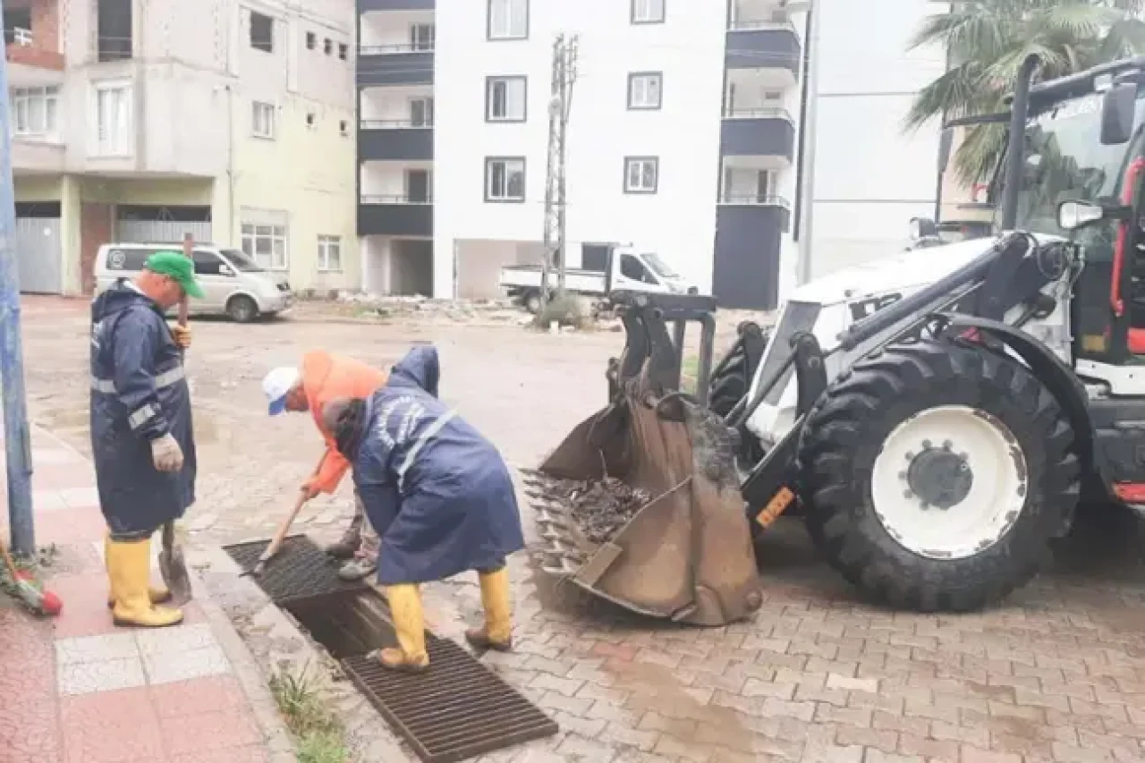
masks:
<svg viewBox="0 0 1145 763"><path fill-rule="evenodd" d="M520 692L451 640L426 632L429 669L386 670L352 656L342 667L426 763L452 763L551 737L558 726Z"/></svg>

